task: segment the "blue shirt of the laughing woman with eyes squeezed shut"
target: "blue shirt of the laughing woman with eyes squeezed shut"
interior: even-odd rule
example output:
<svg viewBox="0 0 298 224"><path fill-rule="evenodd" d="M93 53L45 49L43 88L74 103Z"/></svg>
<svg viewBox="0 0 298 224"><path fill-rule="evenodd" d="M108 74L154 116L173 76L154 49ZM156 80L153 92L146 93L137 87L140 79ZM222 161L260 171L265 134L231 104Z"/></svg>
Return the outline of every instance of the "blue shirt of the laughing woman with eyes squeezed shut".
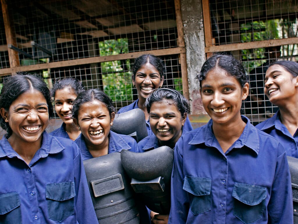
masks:
<svg viewBox="0 0 298 224"><path fill-rule="evenodd" d="M93 158L87 148L83 134L80 134L79 137L77 137L75 143L77 143L81 150L83 160ZM122 149L132 152L139 152L139 147L133 137L117 134L114 131L110 131L108 154L113 152L120 152Z"/></svg>

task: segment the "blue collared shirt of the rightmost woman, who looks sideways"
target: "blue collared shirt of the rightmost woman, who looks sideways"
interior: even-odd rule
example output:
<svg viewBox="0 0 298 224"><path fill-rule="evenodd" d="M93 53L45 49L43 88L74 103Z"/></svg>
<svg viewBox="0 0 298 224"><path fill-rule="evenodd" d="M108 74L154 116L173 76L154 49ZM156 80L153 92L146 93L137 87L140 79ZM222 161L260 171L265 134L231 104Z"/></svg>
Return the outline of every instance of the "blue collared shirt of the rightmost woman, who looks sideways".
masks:
<svg viewBox="0 0 298 224"><path fill-rule="evenodd" d="M285 148L287 156L298 158L298 129L292 136L285 125L281 123L279 111L273 117L256 125L256 128L276 138Z"/></svg>

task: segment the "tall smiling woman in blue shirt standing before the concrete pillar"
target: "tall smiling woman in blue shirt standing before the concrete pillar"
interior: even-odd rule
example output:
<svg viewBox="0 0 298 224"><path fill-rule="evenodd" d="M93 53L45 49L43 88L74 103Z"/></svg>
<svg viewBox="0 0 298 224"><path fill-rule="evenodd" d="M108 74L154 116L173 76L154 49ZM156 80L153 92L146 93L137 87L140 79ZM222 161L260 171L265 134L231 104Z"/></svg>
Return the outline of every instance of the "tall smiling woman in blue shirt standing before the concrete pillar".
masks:
<svg viewBox="0 0 298 224"><path fill-rule="evenodd" d="M169 223L293 223L285 150L240 114L249 93L241 62L215 54L198 79L211 119L176 143Z"/></svg>

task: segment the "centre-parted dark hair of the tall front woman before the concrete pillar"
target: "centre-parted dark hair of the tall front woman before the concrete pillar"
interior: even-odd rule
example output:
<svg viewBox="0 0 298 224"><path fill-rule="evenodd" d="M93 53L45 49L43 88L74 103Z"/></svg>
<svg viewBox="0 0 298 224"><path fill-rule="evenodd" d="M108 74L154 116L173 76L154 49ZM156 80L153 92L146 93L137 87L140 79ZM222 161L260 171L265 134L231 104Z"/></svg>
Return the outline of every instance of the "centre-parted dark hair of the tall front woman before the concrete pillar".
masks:
<svg viewBox="0 0 298 224"><path fill-rule="evenodd" d="M244 87L245 83L249 80L240 61L231 55L214 54L204 62L201 72L197 76L197 79L200 81L200 86L202 81L206 78L207 73L215 67L220 67L229 73L229 75L234 76L238 79L242 87Z"/></svg>

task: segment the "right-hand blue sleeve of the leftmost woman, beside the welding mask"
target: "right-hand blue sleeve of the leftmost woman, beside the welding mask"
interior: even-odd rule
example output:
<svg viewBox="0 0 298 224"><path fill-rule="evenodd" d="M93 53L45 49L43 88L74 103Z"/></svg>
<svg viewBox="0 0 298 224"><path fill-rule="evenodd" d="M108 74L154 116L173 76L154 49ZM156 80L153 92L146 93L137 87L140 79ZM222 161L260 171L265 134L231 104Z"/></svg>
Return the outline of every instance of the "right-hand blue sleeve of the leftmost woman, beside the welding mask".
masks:
<svg viewBox="0 0 298 224"><path fill-rule="evenodd" d="M80 224L98 223L80 152L74 159L77 221Z"/></svg>

